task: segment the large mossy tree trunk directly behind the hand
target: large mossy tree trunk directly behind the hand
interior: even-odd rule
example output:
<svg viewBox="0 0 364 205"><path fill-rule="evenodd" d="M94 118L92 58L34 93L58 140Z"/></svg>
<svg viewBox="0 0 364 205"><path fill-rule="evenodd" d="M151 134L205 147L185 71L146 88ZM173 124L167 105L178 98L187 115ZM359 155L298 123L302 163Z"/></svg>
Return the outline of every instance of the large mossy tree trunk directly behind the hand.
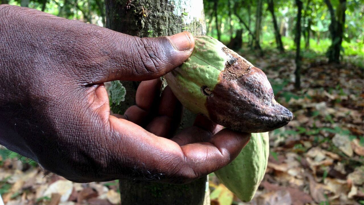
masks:
<svg viewBox="0 0 364 205"><path fill-rule="evenodd" d="M190 31L193 35L205 35L206 25L202 0L106 0L106 26L115 31L139 37L173 35ZM123 81L126 88L125 102L120 113L135 103L138 82ZM180 129L193 124L191 112L184 110ZM122 205L208 205L207 177L187 185L170 185L145 181L120 180Z"/></svg>

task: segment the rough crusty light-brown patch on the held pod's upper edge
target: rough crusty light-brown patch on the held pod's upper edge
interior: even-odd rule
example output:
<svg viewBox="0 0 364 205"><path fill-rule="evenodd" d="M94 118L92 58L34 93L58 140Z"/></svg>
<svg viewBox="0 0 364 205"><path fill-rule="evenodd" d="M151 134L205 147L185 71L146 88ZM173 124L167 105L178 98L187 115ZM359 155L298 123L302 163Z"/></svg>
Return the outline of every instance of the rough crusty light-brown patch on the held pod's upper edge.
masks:
<svg viewBox="0 0 364 205"><path fill-rule="evenodd" d="M232 53L227 47L223 47L222 51L227 55L225 69L222 71L224 79L235 80L250 72L252 65L248 61Z"/></svg>

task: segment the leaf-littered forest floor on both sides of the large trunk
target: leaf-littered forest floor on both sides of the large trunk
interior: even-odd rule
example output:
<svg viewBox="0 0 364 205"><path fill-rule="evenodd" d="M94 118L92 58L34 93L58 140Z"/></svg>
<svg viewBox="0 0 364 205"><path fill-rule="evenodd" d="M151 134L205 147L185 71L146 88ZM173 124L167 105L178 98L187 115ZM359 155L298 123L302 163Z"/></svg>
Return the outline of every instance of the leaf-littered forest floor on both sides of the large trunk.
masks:
<svg viewBox="0 0 364 205"><path fill-rule="evenodd" d="M254 199L241 202L210 174L211 204L363 205L363 67L328 64L303 52L302 88L296 90L294 51L259 58L240 53L266 73L276 100L294 118L270 132L268 169ZM0 194L7 205L120 203L117 180L73 183L6 150L0 150Z"/></svg>

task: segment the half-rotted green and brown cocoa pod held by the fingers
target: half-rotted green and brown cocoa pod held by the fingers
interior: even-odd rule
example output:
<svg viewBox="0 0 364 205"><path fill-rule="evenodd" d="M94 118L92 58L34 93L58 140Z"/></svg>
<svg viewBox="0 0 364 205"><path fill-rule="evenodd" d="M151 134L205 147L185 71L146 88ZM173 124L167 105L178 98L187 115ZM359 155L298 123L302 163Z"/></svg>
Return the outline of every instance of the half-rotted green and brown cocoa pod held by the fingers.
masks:
<svg viewBox="0 0 364 205"><path fill-rule="evenodd" d="M236 131L267 132L292 120L263 71L209 36L196 36L191 57L165 78L187 109Z"/></svg>

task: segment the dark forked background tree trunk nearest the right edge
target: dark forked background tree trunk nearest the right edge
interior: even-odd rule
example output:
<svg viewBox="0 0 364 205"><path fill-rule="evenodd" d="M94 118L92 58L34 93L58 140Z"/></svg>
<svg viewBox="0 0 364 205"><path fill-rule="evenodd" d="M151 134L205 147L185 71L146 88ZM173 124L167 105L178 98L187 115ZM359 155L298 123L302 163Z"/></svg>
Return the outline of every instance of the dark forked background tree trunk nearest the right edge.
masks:
<svg viewBox="0 0 364 205"><path fill-rule="evenodd" d="M331 24L329 31L331 35L331 46L327 51L327 57L329 63L340 63L340 51L342 49L341 43L343 42L344 25L345 25L345 11L346 11L346 0L339 0L340 3L335 11L332 7L330 0L325 0L325 3L329 9L331 16Z"/></svg>

